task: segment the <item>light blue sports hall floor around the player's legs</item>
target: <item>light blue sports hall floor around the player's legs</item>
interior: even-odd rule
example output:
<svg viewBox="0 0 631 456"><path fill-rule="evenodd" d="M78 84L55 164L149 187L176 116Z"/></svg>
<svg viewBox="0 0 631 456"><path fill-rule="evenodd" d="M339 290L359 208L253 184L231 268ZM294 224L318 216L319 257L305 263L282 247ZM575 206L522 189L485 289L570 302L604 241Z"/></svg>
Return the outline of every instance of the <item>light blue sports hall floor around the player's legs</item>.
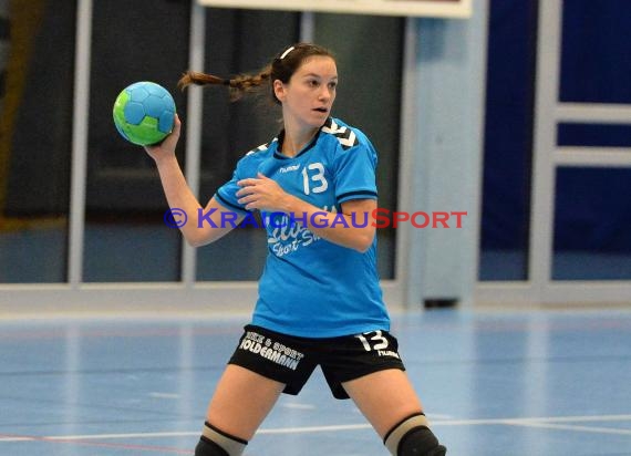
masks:
<svg viewBox="0 0 631 456"><path fill-rule="evenodd" d="M0 320L0 455L192 455L242 317ZM631 455L631 311L393 315L448 455ZM317 374L246 455L386 455Z"/></svg>

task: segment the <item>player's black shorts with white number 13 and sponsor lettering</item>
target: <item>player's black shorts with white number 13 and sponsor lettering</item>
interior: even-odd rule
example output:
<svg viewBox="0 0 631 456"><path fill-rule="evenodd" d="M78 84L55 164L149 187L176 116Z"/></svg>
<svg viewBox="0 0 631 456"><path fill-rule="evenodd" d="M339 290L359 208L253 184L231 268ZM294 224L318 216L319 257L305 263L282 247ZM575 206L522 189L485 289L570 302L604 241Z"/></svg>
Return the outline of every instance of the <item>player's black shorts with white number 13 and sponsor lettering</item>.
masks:
<svg viewBox="0 0 631 456"><path fill-rule="evenodd" d="M298 394L320 365L335 398L349 398L342 383L386 369L405 371L399 343L387 331L341 338L297 338L249 324L229 364L285 383Z"/></svg>

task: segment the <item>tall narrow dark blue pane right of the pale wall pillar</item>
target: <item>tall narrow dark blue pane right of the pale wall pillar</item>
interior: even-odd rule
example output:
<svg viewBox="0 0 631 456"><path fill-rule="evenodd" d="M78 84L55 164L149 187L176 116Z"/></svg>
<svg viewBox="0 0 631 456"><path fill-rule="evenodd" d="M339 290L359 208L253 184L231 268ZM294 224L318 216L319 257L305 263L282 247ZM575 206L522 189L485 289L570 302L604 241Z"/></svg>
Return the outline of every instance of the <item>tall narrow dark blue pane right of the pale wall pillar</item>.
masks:
<svg viewBox="0 0 631 456"><path fill-rule="evenodd" d="M527 280L536 2L492 0L479 280Z"/></svg>

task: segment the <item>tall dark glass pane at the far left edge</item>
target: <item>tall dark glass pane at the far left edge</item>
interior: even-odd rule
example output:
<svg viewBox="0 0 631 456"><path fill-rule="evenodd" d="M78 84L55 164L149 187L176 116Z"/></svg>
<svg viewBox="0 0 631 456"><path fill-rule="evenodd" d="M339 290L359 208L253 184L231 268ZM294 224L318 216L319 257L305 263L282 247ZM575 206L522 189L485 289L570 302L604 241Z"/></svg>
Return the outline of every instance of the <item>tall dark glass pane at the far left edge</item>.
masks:
<svg viewBox="0 0 631 456"><path fill-rule="evenodd" d="M64 282L76 3L18 3L0 54L0 282Z"/></svg>

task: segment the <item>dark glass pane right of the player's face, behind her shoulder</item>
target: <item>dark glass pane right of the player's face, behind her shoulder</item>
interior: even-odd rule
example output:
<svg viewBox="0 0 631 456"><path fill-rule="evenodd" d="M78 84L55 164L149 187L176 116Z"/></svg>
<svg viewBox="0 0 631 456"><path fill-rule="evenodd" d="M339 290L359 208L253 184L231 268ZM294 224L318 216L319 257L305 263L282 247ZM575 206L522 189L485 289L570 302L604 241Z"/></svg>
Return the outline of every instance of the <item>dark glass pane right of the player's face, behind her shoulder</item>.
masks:
<svg viewBox="0 0 631 456"><path fill-rule="evenodd" d="M338 59L340 84L333 115L362 129L379 154L379 206L397 208L404 20L375 15L316 14L316 42ZM379 33L380 45L366 41ZM384 120L386 120L384 122ZM394 279L394 228L377 230L377 267Z"/></svg>

